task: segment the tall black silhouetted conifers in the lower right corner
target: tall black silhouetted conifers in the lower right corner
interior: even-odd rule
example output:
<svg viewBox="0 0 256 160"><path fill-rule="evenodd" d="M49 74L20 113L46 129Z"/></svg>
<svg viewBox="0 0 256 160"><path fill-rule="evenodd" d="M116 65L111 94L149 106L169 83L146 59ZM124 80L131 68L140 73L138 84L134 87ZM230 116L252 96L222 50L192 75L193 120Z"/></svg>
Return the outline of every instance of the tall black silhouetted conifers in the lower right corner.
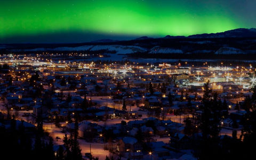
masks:
<svg viewBox="0 0 256 160"><path fill-rule="evenodd" d="M246 97L244 103L246 114L241 121L241 135L233 130L232 137L220 135L221 114L216 97L211 96L209 82L204 85L203 105L199 129L202 138L194 143L194 155L198 159L250 159L254 156L256 142L256 86L251 89L252 97Z"/></svg>

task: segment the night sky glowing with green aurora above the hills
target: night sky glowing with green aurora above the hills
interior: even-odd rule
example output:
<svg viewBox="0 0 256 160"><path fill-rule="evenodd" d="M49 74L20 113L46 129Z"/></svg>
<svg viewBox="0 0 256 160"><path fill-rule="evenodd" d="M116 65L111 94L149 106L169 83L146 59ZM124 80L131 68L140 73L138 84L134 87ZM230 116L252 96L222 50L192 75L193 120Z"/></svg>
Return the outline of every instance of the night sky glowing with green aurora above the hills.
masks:
<svg viewBox="0 0 256 160"><path fill-rule="evenodd" d="M255 0L8 0L0 43L76 43L255 28Z"/></svg>

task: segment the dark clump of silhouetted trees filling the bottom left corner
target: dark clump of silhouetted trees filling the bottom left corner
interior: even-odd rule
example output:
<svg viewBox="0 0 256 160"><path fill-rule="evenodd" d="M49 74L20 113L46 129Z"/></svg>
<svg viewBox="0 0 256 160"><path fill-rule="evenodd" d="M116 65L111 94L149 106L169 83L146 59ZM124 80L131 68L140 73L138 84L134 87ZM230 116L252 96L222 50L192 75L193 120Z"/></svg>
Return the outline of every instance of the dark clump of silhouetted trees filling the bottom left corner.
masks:
<svg viewBox="0 0 256 160"><path fill-rule="evenodd" d="M52 138L38 127L27 132L23 123L21 121L18 125L14 118L1 122L1 157L28 160L54 159Z"/></svg>

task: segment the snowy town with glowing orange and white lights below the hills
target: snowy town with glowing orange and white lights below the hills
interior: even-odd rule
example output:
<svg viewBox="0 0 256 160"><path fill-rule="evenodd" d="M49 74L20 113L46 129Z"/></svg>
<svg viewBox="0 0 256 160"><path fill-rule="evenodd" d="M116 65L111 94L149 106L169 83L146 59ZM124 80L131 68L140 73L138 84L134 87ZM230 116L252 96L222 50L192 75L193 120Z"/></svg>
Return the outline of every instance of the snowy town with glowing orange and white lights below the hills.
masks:
<svg viewBox="0 0 256 160"><path fill-rule="evenodd" d="M21 148L37 156L38 141L41 149L51 142L53 159L75 151L83 159L197 159L213 154L198 147L205 134L225 146L250 133L253 63L97 58L104 54L2 54L1 131L16 130L19 146L30 138ZM223 155L237 156L228 147Z"/></svg>

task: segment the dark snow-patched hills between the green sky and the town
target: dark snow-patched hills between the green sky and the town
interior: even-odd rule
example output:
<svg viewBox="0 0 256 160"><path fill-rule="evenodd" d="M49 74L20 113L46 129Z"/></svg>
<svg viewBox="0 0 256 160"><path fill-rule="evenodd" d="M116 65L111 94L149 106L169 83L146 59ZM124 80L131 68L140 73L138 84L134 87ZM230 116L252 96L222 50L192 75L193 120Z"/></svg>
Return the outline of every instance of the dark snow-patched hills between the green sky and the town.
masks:
<svg viewBox="0 0 256 160"><path fill-rule="evenodd" d="M221 33L151 38L128 41L99 39L87 43L0 44L1 53L73 52L121 54L144 58L247 58L256 59L256 29L238 28ZM236 55L238 57L236 57Z"/></svg>

